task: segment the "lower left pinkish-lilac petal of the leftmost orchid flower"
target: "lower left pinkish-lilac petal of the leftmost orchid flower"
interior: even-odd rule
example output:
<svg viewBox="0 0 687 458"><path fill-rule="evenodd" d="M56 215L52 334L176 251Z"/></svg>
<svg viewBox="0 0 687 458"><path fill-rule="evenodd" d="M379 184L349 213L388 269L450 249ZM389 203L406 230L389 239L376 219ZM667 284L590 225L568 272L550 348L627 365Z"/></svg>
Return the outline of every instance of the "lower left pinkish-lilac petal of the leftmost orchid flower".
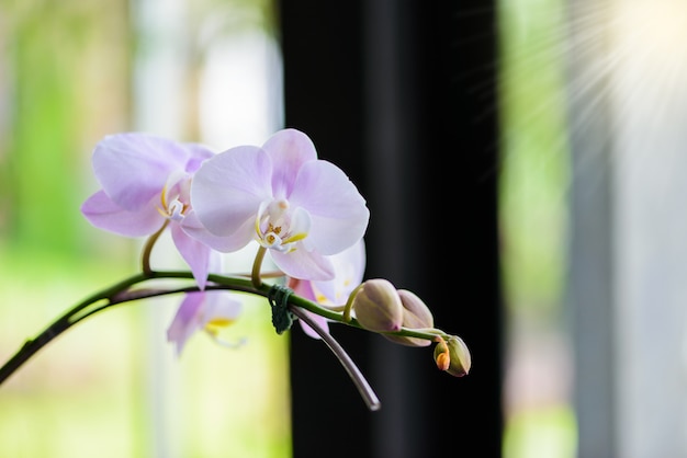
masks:
<svg viewBox="0 0 687 458"><path fill-rule="evenodd" d="M136 211L116 205L104 191L98 191L81 205L81 213L97 228L124 237L150 236L162 227L165 217L155 208L156 199Z"/></svg>

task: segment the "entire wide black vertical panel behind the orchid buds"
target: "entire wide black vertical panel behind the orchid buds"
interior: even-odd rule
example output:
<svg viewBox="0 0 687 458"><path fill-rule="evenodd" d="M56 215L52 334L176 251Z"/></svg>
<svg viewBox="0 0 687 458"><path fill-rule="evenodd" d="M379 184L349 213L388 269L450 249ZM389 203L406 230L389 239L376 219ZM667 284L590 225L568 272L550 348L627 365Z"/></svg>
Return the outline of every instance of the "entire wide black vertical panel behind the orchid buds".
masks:
<svg viewBox="0 0 687 458"><path fill-rule="evenodd" d="M502 454L494 8L280 3L286 125L368 198L367 277L418 294L473 355L453 378L431 347L336 327L381 398L369 412L325 345L294 329L295 457Z"/></svg>

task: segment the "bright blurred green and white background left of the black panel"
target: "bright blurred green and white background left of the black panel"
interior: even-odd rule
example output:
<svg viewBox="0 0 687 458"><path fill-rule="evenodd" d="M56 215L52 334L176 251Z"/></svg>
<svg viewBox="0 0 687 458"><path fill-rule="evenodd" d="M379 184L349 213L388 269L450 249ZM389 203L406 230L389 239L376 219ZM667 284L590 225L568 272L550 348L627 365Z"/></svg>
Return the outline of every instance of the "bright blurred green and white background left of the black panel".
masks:
<svg viewBox="0 0 687 458"><path fill-rule="evenodd" d="M260 145L283 122L269 1L0 5L4 362L67 308L140 268L143 240L79 213L99 188L90 157L100 139L142 130L219 152ZM250 261L233 262L245 272ZM153 263L184 266L168 239ZM286 340L269 308L246 304L229 336L247 337L241 350L199 334L177 359L166 329L180 300L117 307L40 352L2 387L0 456L285 456Z"/></svg>

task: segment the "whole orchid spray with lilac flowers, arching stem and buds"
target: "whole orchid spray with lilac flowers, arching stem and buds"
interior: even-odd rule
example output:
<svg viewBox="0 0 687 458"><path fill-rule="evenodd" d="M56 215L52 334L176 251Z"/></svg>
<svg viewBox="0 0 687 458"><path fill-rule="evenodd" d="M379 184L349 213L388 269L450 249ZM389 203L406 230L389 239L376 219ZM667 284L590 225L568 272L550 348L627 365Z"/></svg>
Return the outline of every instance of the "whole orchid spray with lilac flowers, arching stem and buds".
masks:
<svg viewBox="0 0 687 458"><path fill-rule="evenodd" d="M262 146L219 153L142 133L117 134L97 145L92 165L101 188L81 211L98 228L147 237L143 272L69 310L41 345L115 304L183 293L167 331L181 354L198 331L223 342L219 330L240 318L240 295L227 293L234 290L268 298L279 333L299 321L306 334L338 348L328 329L338 322L402 345L436 343L437 367L458 377L470 370L464 342L436 329L431 311L415 294L385 279L363 280L363 237L370 219L365 199L338 167L318 159L304 133L282 129ZM151 267L153 248L167 230L190 272ZM223 254L250 243L256 245L250 275L223 275ZM269 275L262 272L266 256L278 270ZM153 278L188 278L194 284L168 290L133 288ZM101 299L108 302L99 305ZM0 382L40 348L36 345L22 348L0 368ZM351 369L342 350L335 354Z"/></svg>

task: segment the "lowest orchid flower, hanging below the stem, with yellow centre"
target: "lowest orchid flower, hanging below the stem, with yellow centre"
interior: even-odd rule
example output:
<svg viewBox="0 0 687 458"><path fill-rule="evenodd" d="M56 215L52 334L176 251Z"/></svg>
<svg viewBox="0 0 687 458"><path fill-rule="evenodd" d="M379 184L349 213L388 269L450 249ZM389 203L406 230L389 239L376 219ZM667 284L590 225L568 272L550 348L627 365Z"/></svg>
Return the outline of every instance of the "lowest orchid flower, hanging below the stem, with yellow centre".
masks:
<svg viewBox="0 0 687 458"><path fill-rule="evenodd" d="M205 331L216 342L228 345L219 340L219 330L232 324L240 311L241 302L227 293L188 293L167 329L167 340L177 346L177 356L196 331Z"/></svg>

